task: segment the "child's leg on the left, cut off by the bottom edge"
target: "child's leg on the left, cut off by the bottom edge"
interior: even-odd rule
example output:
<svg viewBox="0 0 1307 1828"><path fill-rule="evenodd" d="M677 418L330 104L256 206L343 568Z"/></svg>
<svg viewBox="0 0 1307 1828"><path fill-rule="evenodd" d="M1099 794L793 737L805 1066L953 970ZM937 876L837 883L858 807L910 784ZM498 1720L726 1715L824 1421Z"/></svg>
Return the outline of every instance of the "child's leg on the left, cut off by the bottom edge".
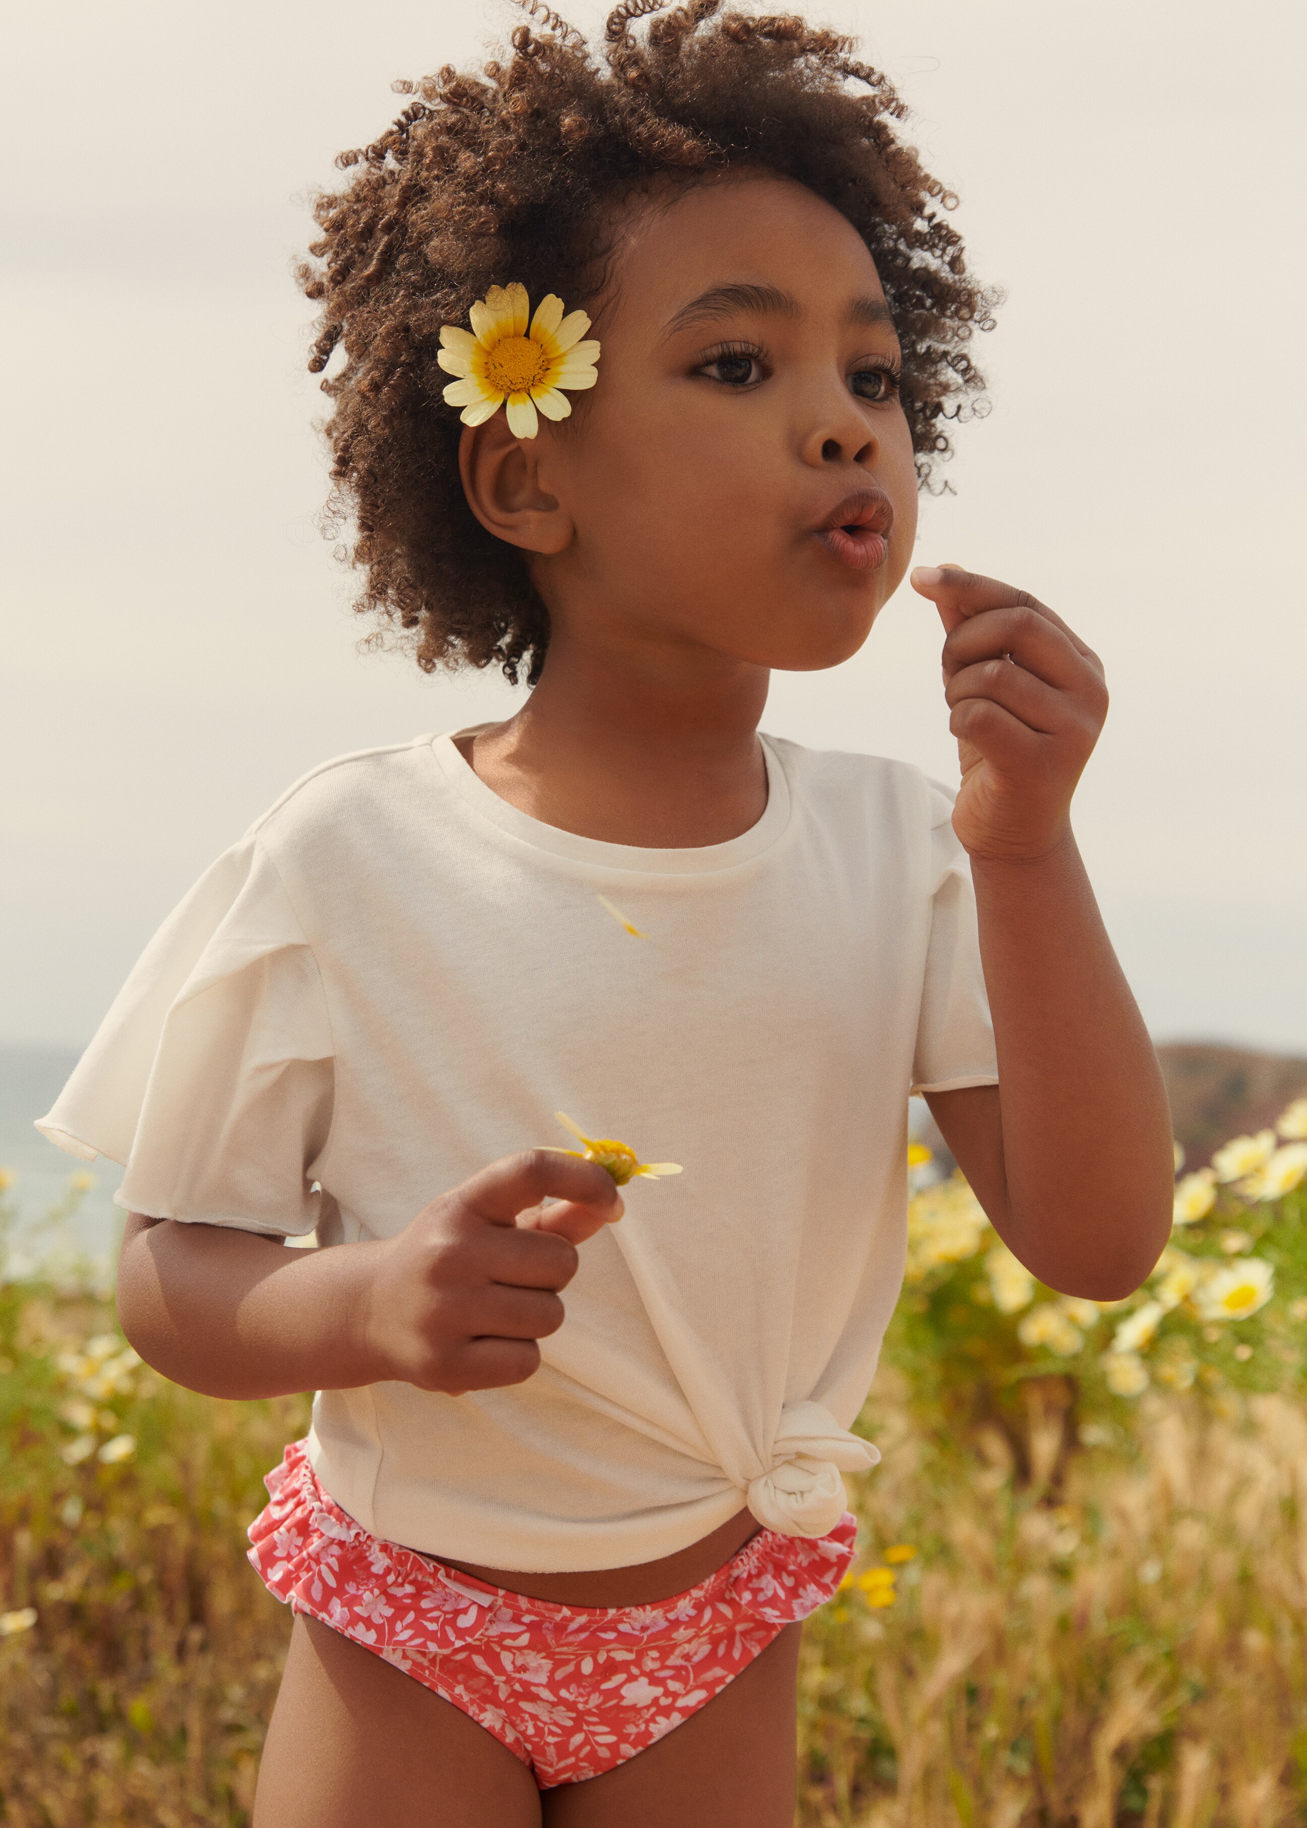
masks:
<svg viewBox="0 0 1307 1828"><path fill-rule="evenodd" d="M541 1828L521 1759L413 1676L300 1614L254 1828Z"/></svg>

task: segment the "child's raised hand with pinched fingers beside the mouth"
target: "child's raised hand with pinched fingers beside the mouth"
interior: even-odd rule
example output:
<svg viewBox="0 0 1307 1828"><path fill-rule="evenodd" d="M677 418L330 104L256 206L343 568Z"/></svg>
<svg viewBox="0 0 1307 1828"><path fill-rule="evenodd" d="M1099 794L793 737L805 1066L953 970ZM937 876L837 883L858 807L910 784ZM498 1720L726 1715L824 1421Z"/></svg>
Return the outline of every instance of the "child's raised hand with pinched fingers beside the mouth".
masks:
<svg viewBox="0 0 1307 1828"><path fill-rule="evenodd" d="M945 627L962 760L954 832L972 857L1047 856L1069 830L1071 793L1108 715L1099 656L1027 590L962 565L918 565L912 589Z"/></svg>

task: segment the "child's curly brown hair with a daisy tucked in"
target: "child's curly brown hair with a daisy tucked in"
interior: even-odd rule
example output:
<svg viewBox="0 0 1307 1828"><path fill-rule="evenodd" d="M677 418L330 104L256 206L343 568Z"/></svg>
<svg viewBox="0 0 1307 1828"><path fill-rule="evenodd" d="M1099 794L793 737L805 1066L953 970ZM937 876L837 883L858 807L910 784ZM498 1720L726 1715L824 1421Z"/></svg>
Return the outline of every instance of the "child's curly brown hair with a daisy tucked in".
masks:
<svg viewBox="0 0 1307 1828"><path fill-rule="evenodd" d="M494 283L568 307L605 283L605 207L658 183L731 166L777 172L863 236L903 345L903 408L919 484L951 453L945 420L974 413L967 355L996 292L969 276L929 177L892 122L892 84L854 40L793 15L722 13L722 0L627 0L596 55L541 0L481 77L446 66L420 82L353 175L314 201L322 238L298 269L322 318L309 367L333 400L333 512L353 514L355 603L402 631L424 671L499 664L536 684L548 614L523 556L475 519L459 481L459 417L442 404L442 324L466 324ZM636 20L647 18L642 35ZM936 208L938 205L938 208ZM971 402L971 404L967 404Z"/></svg>

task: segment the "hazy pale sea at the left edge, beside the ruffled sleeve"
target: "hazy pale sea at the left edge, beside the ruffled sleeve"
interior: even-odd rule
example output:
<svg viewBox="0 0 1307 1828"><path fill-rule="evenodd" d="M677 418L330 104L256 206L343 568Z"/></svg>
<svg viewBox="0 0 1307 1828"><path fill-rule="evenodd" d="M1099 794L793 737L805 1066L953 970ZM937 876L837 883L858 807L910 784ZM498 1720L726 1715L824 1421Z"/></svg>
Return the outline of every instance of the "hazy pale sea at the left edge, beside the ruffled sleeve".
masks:
<svg viewBox="0 0 1307 1828"><path fill-rule="evenodd" d="M122 1170L104 1157L66 1155L33 1130L75 1066L75 1049L0 1046L0 1168L13 1177L7 1203L18 1214L7 1250L11 1276L77 1258L108 1278L117 1258L122 1212L113 1194ZM58 1223L51 1214L68 1203L75 1174L90 1174L95 1185Z"/></svg>

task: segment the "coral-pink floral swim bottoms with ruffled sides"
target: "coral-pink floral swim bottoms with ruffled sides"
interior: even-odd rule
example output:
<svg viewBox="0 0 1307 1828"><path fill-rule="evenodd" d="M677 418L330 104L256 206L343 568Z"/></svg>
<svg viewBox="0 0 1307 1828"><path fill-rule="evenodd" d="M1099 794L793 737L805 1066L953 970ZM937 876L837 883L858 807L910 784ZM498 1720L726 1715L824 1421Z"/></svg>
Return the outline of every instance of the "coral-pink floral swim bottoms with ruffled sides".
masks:
<svg viewBox="0 0 1307 1828"><path fill-rule="evenodd" d="M322 1490L302 1440L265 1484L249 1534L271 1592L461 1707L541 1790L598 1777L671 1733L830 1600L854 1559L845 1514L821 1537L760 1530L675 1600L556 1605L369 1536Z"/></svg>

